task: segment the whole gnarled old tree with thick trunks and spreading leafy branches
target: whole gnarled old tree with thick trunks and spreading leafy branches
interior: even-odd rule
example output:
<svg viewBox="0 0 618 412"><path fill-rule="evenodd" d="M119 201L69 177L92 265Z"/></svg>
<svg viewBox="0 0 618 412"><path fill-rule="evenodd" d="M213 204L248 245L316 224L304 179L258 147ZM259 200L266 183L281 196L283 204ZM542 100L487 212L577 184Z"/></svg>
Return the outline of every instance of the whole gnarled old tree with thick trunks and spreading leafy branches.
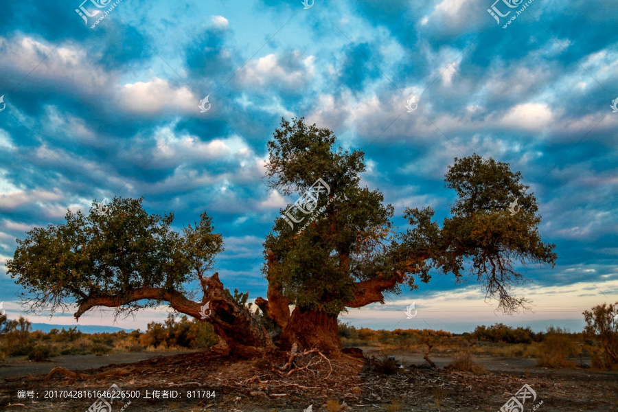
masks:
<svg viewBox="0 0 618 412"><path fill-rule="evenodd" d="M266 185L304 203L282 209L266 236L259 315L211 274L223 238L206 212L179 233L173 214L148 214L142 199L115 198L104 210L93 203L88 215L69 211L62 225L33 229L17 240L8 273L30 310L75 305L78 319L95 307L127 314L168 304L212 323L220 347L242 357L295 345L336 356L339 314L413 290L431 273L458 282L470 273L504 312L527 307L512 294L526 281L516 265L553 266L556 254L539 236L536 198L520 173L478 155L456 158L446 173L457 194L451 216L439 224L431 207L407 208L409 227L398 231L393 206L361 187L364 153L335 143L332 131L302 118L282 119L268 142Z"/></svg>

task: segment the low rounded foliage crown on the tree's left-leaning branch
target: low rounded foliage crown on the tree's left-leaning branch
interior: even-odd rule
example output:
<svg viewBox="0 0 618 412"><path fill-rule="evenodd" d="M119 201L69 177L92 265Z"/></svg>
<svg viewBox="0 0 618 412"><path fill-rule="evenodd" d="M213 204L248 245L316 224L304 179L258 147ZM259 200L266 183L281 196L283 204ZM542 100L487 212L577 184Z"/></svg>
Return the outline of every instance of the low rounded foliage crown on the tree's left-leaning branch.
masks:
<svg viewBox="0 0 618 412"><path fill-rule="evenodd" d="M17 240L8 273L23 286L30 310L79 304L89 298L119 297L140 288L186 293L185 285L214 266L223 250L211 218L172 230L173 214L148 214L142 198L114 198L105 209L96 202L86 216L67 211L65 223L37 227ZM132 301L118 312L156 306Z"/></svg>

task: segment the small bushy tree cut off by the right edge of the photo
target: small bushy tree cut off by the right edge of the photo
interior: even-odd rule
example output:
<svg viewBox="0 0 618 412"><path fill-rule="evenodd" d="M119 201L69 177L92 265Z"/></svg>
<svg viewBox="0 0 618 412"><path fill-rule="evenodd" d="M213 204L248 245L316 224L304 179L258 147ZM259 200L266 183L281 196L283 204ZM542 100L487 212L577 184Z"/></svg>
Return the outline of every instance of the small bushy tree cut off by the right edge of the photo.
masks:
<svg viewBox="0 0 618 412"><path fill-rule="evenodd" d="M584 311L586 327L584 333L593 336L601 345L604 366L608 369L618 367L618 302L597 305Z"/></svg>

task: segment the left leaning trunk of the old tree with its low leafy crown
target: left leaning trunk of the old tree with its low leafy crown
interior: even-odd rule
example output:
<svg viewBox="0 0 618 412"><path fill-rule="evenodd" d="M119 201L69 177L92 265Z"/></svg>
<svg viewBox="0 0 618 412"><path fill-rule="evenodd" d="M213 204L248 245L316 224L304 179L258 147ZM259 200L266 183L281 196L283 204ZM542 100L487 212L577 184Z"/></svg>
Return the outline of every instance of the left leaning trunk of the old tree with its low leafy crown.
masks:
<svg viewBox="0 0 618 412"><path fill-rule="evenodd" d="M223 238L214 233L204 212L200 221L172 230L174 214L148 214L142 199L114 198L105 211L93 202L89 214L67 212L62 225L36 227L18 239L8 273L25 291L26 308L68 310L77 304L76 319L97 306L130 314L141 308L169 304L178 312L214 326L230 350L255 356L273 343L244 305L238 304L214 273L214 259ZM201 302L189 288L201 286ZM198 287L199 287L198 286ZM246 298L245 298L246 299Z"/></svg>

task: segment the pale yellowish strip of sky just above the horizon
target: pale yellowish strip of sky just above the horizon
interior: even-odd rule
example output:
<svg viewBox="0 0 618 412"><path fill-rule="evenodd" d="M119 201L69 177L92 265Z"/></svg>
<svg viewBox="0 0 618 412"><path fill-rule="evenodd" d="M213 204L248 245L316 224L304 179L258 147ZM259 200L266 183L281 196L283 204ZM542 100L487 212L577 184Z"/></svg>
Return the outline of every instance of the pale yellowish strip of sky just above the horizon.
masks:
<svg viewBox="0 0 618 412"><path fill-rule="evenodd" d="M595 286L596 285L596 286ZM455 290L435 291L433 293L412 293L407 297L391 295L385 304L371 304L360 309L350 309L340 319L356 326L384 329L441 329L441 325L453 323L493 324L496 322L526 325L529 322L544 320L582 320L582 312L595 305L618 301L618 281L579 282L567 286L536 286L527 284L514 290L516 295L532 301L532 312L518 312L504 315L496 312L496 301L485 302L485 295L478 286L467 285ZM422 296L426 297L422 298ZM407 319L405 309L415 303L417 315ZM5 301L4 309L10 319L25 313L19 303ZM111 310L95 309L84 314L79 323L72 312L52 317L27 314L32 323L52 323L56 325L108 325L127 329L146 330L152 321L163 321L169 308L161 306L147 309L126 319L114 321ZM383 326L382 326L383 325ZM549 324L548 324L549 325ZM448 330L448 328L444 328Z"/></svg>

